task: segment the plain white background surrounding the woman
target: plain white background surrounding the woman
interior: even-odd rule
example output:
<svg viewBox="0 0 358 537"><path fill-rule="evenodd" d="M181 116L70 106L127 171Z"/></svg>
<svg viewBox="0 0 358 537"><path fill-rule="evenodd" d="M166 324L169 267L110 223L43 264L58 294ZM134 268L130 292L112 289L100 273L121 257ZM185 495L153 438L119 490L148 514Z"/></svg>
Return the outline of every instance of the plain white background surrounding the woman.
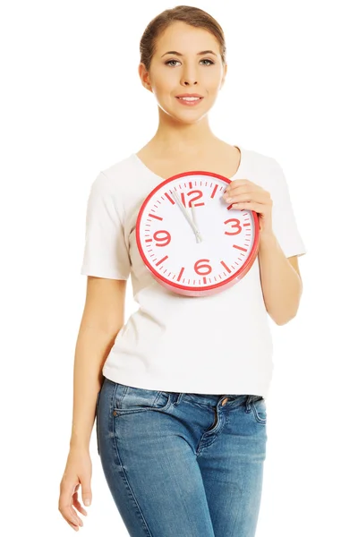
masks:
<svg viewBox="0 0 358 537"><path fill-rule="evenodd" d="M283 327L272 323L275 370L256 537L354 535L354 2L192 5L226 33L228 74L210 126L283 166L308 250L300 258L299 313ZM157 130L155 98L137 71L139 42L149 21L174 6L13 0L1 8L0 532L7 537L73 531L57 504L85 297L86 203L98 171L141 149ZM127 317L136 308L130 284L128 294ZM235 334L228 337L234 344ZM93 501L80 532L125 536L95 434L91 453Z"/></svg>

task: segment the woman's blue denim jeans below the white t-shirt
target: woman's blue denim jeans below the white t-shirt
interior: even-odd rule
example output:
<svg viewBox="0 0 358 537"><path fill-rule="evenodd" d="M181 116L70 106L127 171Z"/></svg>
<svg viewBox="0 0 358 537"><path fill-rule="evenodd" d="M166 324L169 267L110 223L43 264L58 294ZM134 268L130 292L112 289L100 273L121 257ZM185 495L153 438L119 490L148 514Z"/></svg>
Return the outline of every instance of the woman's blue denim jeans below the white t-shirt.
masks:
<svg viewBox="0 0 358 537"><path fill-rule="evenodd" d="M97 442L132 537L253 537L266 456L261 396L132 388L104 379Z"/></svg>

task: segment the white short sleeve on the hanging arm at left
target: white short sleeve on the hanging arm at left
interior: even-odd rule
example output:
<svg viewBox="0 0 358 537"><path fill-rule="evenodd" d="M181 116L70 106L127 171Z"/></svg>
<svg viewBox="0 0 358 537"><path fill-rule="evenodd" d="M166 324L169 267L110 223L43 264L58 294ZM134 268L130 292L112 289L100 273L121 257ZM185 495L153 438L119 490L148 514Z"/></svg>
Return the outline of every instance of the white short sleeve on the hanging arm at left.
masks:
<svg viewBox="0 0 358 537"><path fill-rule="evenodd" d="M124 239L124 212L112 191L109 178L100 172L87 202L81 274L126 280L131 261Z"/></svg>

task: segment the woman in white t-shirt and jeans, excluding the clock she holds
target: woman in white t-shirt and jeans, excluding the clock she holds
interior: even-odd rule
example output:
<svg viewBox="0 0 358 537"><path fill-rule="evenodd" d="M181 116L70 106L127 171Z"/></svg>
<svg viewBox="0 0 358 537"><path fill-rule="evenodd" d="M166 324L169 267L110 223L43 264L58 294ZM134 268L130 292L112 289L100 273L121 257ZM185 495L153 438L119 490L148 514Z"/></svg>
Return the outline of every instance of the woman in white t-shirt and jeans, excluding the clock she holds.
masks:
<svg viewBox="0 0 358 537"><path fill-rule="evenodd" d="M92 184L81 274L86 303L74 362L70 453L59 508L74 530L91 501L90 434L132 536L251 537L266 455L272 374L268 315L294 318L304 250L286 179L273 158L219 140L208 112L226 78L225 40L208 13L177 6L141 38L139 74L158 101L158 131ZM200 96L195 104L183 94ZM182 96L180 98L179 96ZM207 170L231 179L225 200L256 211L259 253L212 296L171 293L141 260L135 225L167 177ZM238 173L247 175L236 178ZM126 280L140 307L124 324ZM233 345L236 338L237 345Z"/></svg>

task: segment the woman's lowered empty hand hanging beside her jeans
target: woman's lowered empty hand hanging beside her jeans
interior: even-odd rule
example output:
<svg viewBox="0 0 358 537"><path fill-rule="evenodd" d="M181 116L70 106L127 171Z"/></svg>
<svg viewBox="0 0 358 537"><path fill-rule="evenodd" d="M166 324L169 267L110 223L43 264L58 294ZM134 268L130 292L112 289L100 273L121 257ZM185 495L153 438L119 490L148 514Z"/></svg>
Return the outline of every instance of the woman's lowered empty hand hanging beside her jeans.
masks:
<svg viewBox="0 0 358 537"><path fill-rule="evenodd" d="M78 489L81 484L82 501L85 505L90 506L92 500L90 489L91 477L92 463L90 460L90 451L88 449L71 447L60 484L58 509L61 515L64 516L64 520L76 532L79 531L79 526L82 526L83 522L73 507L76 507L82 515L87 516L87 511L81 506L80 500L78 499Z"/></svg>

